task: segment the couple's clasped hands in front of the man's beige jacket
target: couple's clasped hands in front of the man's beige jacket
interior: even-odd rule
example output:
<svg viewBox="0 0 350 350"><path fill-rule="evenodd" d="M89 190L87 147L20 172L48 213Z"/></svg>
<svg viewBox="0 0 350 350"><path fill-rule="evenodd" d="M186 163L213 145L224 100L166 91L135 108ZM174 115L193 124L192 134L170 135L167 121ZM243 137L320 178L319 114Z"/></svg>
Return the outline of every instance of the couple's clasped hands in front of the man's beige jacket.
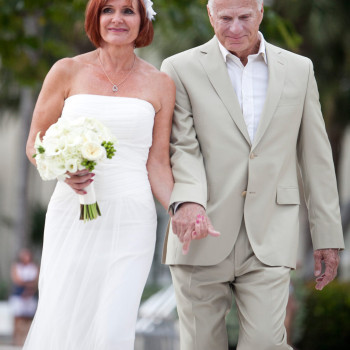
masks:
<svg viewBox="0 0 350 350"><path fill-rule="evenodd" d="M172 217L172 229L182 245L183 254L187 254L191 241L202 239L208 235L220 236L220 232L215 231L204 208L197 203L183 203Z"/></svg>

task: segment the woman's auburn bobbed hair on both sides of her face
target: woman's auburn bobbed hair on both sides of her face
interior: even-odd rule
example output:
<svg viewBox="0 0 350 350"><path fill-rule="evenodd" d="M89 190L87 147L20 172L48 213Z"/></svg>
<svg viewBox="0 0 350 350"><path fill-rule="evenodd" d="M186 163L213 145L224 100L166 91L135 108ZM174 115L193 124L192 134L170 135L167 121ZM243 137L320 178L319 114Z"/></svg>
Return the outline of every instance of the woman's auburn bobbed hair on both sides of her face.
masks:
<svg viewBox="0 0 350 350"><path fill-rule="evenodd" d="M85 11L85 31L90 41L96 46L101 46L102 37L100 34L101 10L107 0L89 0ZM131 2L131 1L130 1ZM144 47L153 40L152 21L147 18L146 8L143 0L137 0L141 17L139 35L135 40L135 47Z"/></svg>

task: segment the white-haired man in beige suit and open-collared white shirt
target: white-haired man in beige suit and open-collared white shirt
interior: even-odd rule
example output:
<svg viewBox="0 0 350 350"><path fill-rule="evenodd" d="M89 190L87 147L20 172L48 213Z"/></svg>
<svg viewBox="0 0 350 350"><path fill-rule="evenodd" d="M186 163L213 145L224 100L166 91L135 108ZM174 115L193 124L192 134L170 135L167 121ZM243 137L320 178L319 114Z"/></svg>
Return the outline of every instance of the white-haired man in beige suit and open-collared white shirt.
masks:
<svg viewBox="0 0 350 350"><path fill-rule="evenodd" d="M291 349L284 318L298 246L299 170L316 289L335 278L344 247L312 63L264 40L263 12L262 0L209 0L215 37L162 65L177 87L175 214L164 260L174 281L182 350L227 350L231 290L240 322L237 349Z"/></svg>

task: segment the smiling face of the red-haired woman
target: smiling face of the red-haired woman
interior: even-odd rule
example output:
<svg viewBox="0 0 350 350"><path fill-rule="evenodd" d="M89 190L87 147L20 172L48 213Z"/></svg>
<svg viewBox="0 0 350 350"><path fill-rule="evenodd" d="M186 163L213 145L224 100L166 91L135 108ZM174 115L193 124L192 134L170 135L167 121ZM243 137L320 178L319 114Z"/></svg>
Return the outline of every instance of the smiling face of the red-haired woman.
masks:
<svg viewBox="0 0 350 350"><path fill-rule="evenodd" d="M140 24L137 0L108 0L101 9L100 34L108 44L133 44L139 35Z"/></svg>

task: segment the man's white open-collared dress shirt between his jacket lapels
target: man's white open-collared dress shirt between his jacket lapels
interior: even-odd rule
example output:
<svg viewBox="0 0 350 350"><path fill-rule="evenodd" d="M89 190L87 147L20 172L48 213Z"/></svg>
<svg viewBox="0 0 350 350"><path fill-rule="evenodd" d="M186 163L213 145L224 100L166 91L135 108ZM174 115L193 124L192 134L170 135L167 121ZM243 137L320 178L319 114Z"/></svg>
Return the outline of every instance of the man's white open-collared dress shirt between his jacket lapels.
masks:
<svg viewBox="0 0 350 350"><path fill-rule="evenodd" d="M259 38L259 51L257 54L248 56L248 63L245 66L237 56L230 53L218 40L251 142L253 142L258 129L268 85L265 39L260 32Z"/></svg>

